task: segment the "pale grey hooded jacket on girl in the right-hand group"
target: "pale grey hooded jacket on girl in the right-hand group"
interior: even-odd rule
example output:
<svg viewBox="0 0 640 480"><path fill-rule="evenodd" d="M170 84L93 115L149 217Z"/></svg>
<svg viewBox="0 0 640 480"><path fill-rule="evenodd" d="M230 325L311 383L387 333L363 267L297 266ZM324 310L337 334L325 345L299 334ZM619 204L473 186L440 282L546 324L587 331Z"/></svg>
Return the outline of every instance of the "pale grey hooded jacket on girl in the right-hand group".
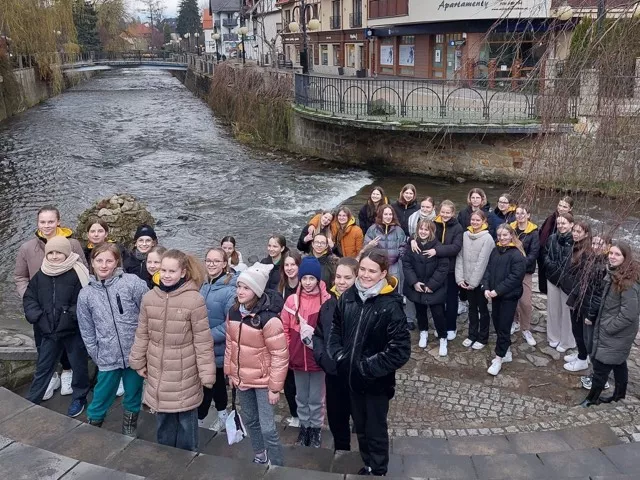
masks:
<svg viewBox="0 0 640 480"><path fill-rule="evenodd" d="M460 284L464 281L474 289L479 287L495 247L496 244L486 224L484 229L477 233L472 232L469 227L464 232L462 250L456 258L456 283Z"/></svg>

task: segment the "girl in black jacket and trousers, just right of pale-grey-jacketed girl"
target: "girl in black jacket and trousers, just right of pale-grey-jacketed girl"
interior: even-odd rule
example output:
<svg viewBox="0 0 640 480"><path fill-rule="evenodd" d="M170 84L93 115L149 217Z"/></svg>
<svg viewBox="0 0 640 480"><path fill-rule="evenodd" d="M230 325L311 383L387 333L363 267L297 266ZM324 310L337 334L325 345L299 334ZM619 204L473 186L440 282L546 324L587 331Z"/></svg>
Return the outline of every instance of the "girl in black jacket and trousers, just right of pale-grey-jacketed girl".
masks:
<svg viewBox="0 0 640 480"><path fill-rule="evenodd" d="M513 228L502 224L496 230L498 246L491 252L487 270L482 279L484 296L491 302L491 318L498 336L496 358L487 370L497 375L502 364L511 358L511 324L522 296L522 282L527 271L527 259L522 242Z"/></svg>

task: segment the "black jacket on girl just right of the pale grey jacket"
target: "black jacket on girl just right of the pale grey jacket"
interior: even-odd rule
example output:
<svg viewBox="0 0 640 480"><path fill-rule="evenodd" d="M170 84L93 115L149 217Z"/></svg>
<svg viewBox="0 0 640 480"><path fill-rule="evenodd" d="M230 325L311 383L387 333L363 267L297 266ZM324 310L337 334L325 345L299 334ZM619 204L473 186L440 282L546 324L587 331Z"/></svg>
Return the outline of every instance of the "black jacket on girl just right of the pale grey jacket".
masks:
<svg viewBox="0 0 640 480"><path fill-rule="evenodd" d="M489 257L482 289L495 290L500 299L518 300L522 296L522 281L526 270L527 260L515 245L498 245Z"/></svg>

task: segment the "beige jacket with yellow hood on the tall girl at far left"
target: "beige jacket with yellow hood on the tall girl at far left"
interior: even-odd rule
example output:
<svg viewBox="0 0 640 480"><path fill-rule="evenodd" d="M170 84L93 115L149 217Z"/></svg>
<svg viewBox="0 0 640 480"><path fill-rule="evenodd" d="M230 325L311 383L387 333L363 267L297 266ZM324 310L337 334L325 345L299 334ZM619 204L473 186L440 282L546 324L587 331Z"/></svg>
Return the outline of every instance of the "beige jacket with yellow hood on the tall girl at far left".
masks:
<svg viewBox="0 0 640 480"><path fill-rule="evenodd" d="M36 230L35 235L36 238L27 240L20 245L18 256L16 257L14 279L20 297L24 296L29 280L40 270L44 260L44 245L47 243L47 239L42 236L40 230ZM56 235L69 239L71 251L77 253L80 261L88 268L82 245L75 238L71 238L73 231L70 228L58 227Z"/></svg>

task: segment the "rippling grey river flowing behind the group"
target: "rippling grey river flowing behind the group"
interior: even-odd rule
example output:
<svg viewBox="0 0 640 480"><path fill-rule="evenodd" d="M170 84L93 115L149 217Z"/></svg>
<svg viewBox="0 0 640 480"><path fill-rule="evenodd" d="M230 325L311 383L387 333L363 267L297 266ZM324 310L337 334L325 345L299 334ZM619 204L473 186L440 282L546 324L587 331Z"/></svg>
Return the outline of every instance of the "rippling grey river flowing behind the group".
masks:
<svg viewBox="0 0 640 480"><path fill-rule="evenodd" d="M34 234L42 205L57 205L62 224L75 227L78 215L98 198L128 192L158 220L165 246L203 255L232 234L245 258L263 257L271 233L295 245L315 210L341 203L357 209L372 184L395 198L408 181L419 195L457 204L470 188L254 150L236 142L208 106L168 72L104 73L0 125L0 327L29 330L20 315L13 267L19 245ZM504 190L475 185L492 202ZM540 212L548 212L553 201L542 201ZM606 207L587 204L593 207L590 216L607 216Z"/></svg>

